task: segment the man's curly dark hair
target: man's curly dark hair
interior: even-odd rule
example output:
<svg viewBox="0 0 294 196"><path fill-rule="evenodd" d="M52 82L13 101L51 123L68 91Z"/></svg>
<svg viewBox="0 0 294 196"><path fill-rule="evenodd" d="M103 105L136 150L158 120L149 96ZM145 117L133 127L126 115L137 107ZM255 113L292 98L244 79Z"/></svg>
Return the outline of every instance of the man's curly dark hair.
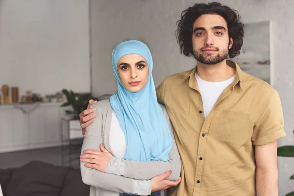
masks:
<svg viewBox="0 0 294 196"><path fill-rule="evenodd" d="M229 39L233 38L233 46L229 49L229 56L233 58L239 55L244 37L244 25L240 22L241 16L236 10L218 2L195 3L192 7L182 12L181 20L176 22L176 38L177 43L180 45L181 54L193 55L193 24L202 14L217 14L224 18L228 27Z"/></svg>

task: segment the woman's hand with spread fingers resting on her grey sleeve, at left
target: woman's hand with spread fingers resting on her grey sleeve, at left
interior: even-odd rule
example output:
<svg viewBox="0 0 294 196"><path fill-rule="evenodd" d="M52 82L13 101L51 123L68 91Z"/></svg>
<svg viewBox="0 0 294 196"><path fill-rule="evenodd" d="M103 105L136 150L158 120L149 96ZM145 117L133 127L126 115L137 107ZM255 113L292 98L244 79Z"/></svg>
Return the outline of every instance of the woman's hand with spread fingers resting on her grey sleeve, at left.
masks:
<svg viewBox="0 0 294 196"><path fill-rule="evenodd" d="M84 150L83 155L80 155L80 160L86 162L84 166L87 168L93 168L100 172L106 172L106 168L112 154L100 144L100 151L98 150ZM88 164L87 164L88 163Z"/></svg>

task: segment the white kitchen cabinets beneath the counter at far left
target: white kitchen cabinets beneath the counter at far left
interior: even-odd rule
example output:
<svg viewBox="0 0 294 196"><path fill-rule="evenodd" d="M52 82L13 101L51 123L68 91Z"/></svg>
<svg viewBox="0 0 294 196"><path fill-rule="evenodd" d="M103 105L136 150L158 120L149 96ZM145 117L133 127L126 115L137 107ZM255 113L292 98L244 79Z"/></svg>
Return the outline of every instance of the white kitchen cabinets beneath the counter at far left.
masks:
<svg viewBox="0 0 294 196"><path fill-rule="evenodd" d="M25 113L0 105L0 153L61 145L61 103L39 103Z"/></svg>

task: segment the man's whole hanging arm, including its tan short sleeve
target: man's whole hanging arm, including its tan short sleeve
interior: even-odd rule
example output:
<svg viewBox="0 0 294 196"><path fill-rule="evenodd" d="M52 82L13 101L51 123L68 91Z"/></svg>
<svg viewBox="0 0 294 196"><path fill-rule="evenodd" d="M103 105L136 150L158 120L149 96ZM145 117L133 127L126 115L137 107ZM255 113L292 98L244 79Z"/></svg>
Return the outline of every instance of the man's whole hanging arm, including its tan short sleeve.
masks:
<svg viewBox="0 0 294 196"><path fill-rule="evenodd" d="M257 196L278 196L277 140L284 136L281 100L273 90L261 105L251 138L255 146Z"/></svg>

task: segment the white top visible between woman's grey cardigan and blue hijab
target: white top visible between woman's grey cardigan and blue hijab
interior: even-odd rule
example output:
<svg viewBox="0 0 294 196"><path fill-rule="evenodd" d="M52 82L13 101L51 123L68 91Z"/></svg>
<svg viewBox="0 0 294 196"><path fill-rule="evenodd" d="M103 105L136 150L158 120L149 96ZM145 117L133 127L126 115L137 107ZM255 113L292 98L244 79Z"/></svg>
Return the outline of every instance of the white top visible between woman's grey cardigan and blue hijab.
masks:
<svg viewBox="0 0 294 196"><path fill-rule="evenodd" d="M115 112L112 111L112 118L109 131L109 145L116 158L123 159L126 152L126 142L123 129Z"/></svg>

